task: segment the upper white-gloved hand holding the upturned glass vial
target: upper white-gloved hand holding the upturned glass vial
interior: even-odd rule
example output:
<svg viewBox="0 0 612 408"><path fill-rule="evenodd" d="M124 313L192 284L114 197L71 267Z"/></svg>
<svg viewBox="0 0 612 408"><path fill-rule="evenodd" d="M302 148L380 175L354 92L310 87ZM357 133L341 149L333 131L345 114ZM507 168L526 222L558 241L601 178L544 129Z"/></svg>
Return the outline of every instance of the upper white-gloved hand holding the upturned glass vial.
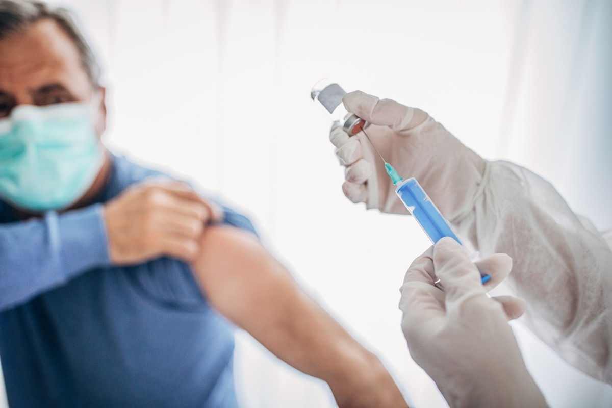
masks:
<svg viewBox="0 0 612 408"><path fill-rule="evenodd" d="M366 132L385 160L404 179L415 177L448 220L471 208L485 169L482 157L420 109L361 91L346 94L343 102L349 112L370 122ZM346 166L342 190L351 201L382 212L408 213L363 133L349 138L334 126L330 140Z"/></svg>

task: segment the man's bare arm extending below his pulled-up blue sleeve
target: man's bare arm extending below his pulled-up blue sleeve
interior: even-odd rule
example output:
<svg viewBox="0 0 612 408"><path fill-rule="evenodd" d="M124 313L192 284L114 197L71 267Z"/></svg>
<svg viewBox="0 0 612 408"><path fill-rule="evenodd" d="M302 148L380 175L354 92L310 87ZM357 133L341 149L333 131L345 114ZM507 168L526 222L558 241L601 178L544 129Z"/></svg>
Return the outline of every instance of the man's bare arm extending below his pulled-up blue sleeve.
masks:
<svg viewBox="0 0 612 408"><path fill-rule="evenodd" d="M211 228L193 270L228 319L300 371L326 380L340 406L405 406L381 362L312 300L255 239ZM388 401L356 390L387 389ZM359 395L359 404L353 401ZM403 405L402 405L403 404Z"/></svg>

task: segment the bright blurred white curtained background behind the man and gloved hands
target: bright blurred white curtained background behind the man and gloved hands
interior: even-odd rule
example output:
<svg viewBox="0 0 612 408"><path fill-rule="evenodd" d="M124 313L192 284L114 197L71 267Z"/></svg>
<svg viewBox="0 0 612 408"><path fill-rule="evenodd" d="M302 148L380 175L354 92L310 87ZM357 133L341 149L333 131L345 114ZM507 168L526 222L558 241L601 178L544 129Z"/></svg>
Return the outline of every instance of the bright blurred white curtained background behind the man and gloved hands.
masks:
<svg viewBox="0 0 612 408"><path fill-rule="evenodd" d="M108 144L243 209L414 406L446 406L409 357L397 308L408 265L430 244L411 218L343 196L330 124L309 97L316 81L419 106L479 154L531 168L574 210L612 226L609 0L68 4L106 67ZM610 386L513 326L551 407L612 406ZM322 382L245 333L236 357L245 408L334 406Z"/></svg>

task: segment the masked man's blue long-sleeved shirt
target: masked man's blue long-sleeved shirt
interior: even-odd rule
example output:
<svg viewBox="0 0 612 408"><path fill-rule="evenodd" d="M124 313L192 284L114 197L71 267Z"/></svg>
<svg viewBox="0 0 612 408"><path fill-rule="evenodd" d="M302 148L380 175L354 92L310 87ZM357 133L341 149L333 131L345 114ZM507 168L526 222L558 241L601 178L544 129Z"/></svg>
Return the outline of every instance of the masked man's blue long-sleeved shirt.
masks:
<svg viewBox="0 0 612 408"><path fill-rule="evenodd" d="M11 408L237 406L233 327L188 265L111 265L102 203L150 176L160 173L113 157L91 206L17 221L0 202L0 358ZM224 223L253 231L225 212Z"/></svg>

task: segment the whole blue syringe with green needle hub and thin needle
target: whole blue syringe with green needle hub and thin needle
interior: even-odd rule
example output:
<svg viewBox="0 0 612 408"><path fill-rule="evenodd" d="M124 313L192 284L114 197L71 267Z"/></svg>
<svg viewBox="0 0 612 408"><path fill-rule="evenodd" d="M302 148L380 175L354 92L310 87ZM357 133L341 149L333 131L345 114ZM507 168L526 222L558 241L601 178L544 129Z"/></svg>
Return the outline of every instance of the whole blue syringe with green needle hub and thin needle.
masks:
<svg viewBox="0 0 612 408"><path fill-rule="evenodd" d="M384 160L383 155L376 149L374 143L372 143L372 139L365 133L365 130L362 128L361 132L364 133L365 137L370 141L371 146L376 150L376 153L383 159L384 168L387 171L390 179L395 185L395 194L400 198L401 202L404 203L408 211L412 214L417 223L419 223L420 227L425 231L425 234L429 237L432 243L438 242L438 240L443 237L451 237L455 241L461 244L463 248L465 248L468 253L470 259L474 261L474 254L470 253L468 248L463 245L463 242L459 239L455 231L451 228L446 218L442 216L442 213L438 210L438 207L433 204L433 201L429 198L423 187L420 186L419 182L414 177L411 177L408 180L404 180L400 177L400 175L395 171L392 165L387 163ZM480 280L482 283L486 283L491 279L490 275L482 275Z"/></svg>

